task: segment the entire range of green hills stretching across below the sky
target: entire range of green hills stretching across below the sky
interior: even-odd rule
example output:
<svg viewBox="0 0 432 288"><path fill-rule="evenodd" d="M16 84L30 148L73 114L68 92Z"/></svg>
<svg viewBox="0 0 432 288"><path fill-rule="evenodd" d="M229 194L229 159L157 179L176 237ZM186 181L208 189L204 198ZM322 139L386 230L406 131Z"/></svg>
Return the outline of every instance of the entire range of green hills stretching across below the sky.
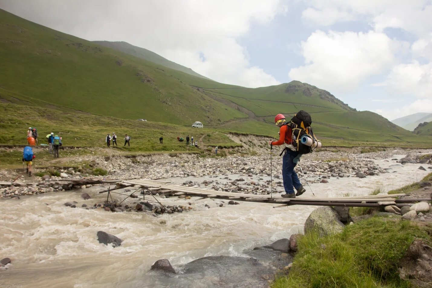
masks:
<svg viewBox="0 0 432 288"><path fill-rule="evenodd" d="M201 121L205 127L274 136L274 115L290 118L306 110L315 133L336 143L430 142L429 137L416 136L378 114L356 111L307 83L256 89L218 83L162 66L165 62L154 63L154 57L142 59L1 9L0 42L0 101L100 115L91 118L95 126L107 117L189 127Z"/></svg>

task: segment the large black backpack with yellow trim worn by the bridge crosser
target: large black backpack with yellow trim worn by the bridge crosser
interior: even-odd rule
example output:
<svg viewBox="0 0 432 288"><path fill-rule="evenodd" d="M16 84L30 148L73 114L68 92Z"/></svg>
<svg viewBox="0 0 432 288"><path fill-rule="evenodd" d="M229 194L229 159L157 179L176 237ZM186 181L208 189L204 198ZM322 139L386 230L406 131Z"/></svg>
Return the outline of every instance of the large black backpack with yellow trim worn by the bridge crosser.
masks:
<svg viewBox="0 0 432 288"><path fill-rule="evenodd" d="M300 110L297 114L295 114L288 123L292 129L292 146L294 146L299 154L312 153L317 147L315 144L317 144L316 142L318 139L315 137L314 132L312 131L311 124L312 117L304 110ZM300 141L304 135L308 135L312 138L312 146L307 146Z"/></svg>

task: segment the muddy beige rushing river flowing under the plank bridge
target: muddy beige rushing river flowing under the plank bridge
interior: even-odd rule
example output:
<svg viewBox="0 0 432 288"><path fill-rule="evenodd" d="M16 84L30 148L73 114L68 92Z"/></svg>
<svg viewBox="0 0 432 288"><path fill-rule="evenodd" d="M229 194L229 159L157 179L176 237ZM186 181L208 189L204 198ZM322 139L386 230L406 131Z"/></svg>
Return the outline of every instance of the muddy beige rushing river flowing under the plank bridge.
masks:
<svg viewBox="0 0 432 288"><path fill-rule="evenodd" d="M382 168L396 164L384 159L375 162ZM428 172L418 170L419 166L392 166L390 172L395 173L364 179L331 178L328 184L311 184L311 187L320 197L343 196L347 192L352 196L364 195L376 187L387 191L424 177ZM254 180L257 178L253 177ZM170 180L182 183L185 179L190 178ZM304 195L311 196L309 187L305 187L308 192ZM111 213L63 205L72 201L79 203L77 207L83 203L88 206L101 203L106 199L106 193L99 194L100 190L101 187L91 187L21 199L1 199L0 258L9 257L12 264L8 269L0 270L0 284L76 288L178 287L178 276L168 277L162 284L161 276L150 272L150 266L158 259L167 258L181 271L182 265L203 256L248 256L245 250L302 231L306 218L316 208L273 209L272 204L249 202L221 208L216 205L220 200L175 201L177 198L171 197L160 201L166 205L193 202L194 210L154 217L146 213ZM92 199L83 200L80 197L83 192L89 193ZM114 196L114 199L123 198ZM116 248L99 244L96 232L100 230L120 237L123 243ZM196 281L200 283L201 280ZM205 278L202 281L205 282ZM207 287L205 283L198 286Z"/></svg>

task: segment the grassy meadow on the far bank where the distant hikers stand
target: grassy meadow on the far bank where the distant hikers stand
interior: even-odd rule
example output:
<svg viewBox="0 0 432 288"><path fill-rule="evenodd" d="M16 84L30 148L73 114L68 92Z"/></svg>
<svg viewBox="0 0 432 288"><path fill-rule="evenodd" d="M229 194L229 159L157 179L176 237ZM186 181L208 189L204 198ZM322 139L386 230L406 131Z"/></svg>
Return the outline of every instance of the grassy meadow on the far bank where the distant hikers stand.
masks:
<svg viewBox="0 0 432 288"><path fill-rule="evenodd" d="M194 139L199 139L207 134L213 135L211 137L213 142L200 143L199 145L239 146L224 133L208 128L197 129L169 123L67 114L53 109L0 103L0 129L2 131L0 143L26 144L26 129L28 127L38 128L39 136L42 137L40 143L46 143L45 136L54 132L63 137L66 146L104 147L106 134L113 132L118 135L119 149L126 151L189 151L190 148L185 143L177 141L177 136L185 138L190 135L194 136ZM132 137L130 148L123 147L124 134ZM161 135L164 138L163 145L159 144Z"/></svg>

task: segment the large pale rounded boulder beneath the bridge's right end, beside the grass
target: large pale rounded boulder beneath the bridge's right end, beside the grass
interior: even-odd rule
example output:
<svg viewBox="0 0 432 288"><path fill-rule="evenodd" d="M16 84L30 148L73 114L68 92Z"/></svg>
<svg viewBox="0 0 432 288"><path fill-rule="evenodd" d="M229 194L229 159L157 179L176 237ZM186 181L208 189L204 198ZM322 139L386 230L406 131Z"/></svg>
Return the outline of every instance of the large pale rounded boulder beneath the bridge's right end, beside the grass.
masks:
<svg viewBox="0 0 432 288"><path fill-rule="evenodd" d="M320 236L336 234L343 231L340 216L332 207L320 207L312 211L305 222L305 234L317 231Z"/></svg>

